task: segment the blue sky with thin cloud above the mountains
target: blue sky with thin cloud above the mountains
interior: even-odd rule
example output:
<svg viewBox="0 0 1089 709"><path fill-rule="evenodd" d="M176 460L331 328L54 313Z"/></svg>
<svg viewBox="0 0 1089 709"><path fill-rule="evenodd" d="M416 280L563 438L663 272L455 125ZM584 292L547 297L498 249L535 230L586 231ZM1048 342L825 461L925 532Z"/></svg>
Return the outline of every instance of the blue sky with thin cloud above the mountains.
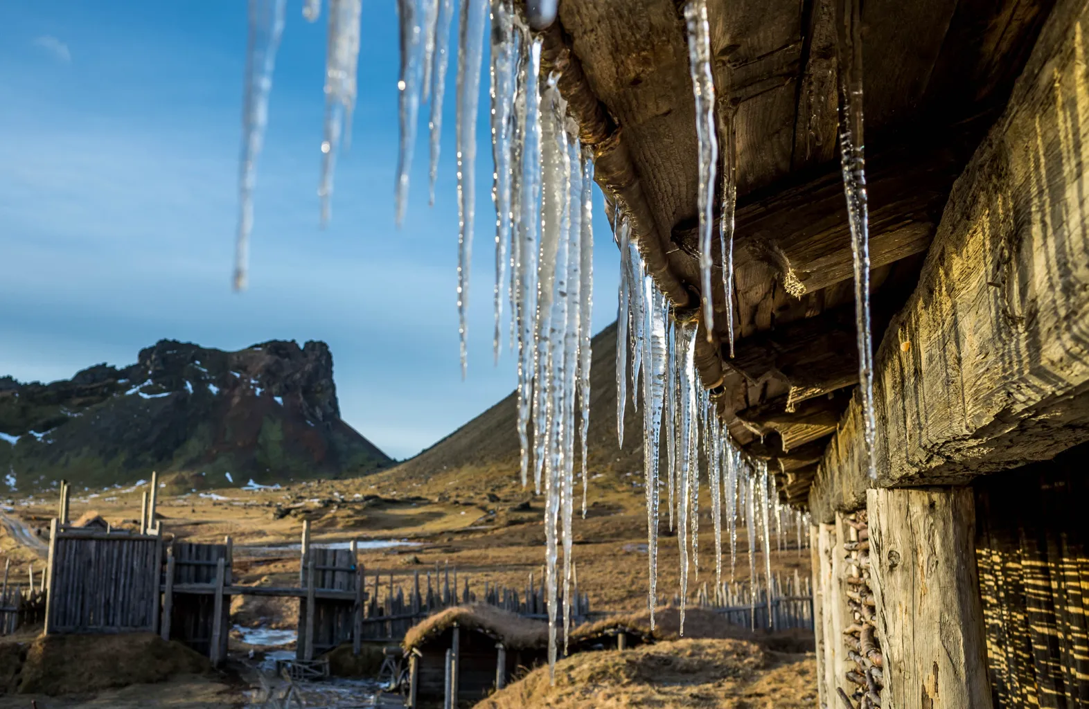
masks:
<svg viewBox="0 0 1089 709"><path fill-rule="evenodd" d="M99 362L135 362L162 338L227 350L325 340L345 420L399 459L513 389L513 358L494 367L491 354L487 80L463 382L454 66L436 205L427 206L421 131L397 230L395 3L364 0L352 145L338 163L332 222L320 230L327 27L325 14L305 22L301 5L287 3L242 294L230 279L246 2L0 5L0 374L68 378ZM597 331L615 316L619 258L595 197Z"/></svg>

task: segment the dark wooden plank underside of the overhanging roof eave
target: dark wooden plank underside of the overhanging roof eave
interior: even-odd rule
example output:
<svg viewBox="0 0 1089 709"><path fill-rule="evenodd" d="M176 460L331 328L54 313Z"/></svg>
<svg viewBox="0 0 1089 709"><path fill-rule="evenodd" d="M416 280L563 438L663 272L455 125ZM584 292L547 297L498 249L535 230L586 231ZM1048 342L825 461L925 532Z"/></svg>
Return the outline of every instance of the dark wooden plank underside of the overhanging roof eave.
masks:
<svg viewBox="0 0 1089 709"><path fill-rule="evenodd" d="M864 3L874 349L915 289L953 182L1004 107L1052 4ZM627 209L675 311L690 317L700 298L698 174L682 11L675 0L564 0L542 34L542 72L562 71L560 90L594 148L599 184ZM696 360L737 443L769 460L781 494L804 506L849 400L836 392L858 380L833 5L709 0L708 11L717 113L736 125L735 343L731 357L715 258L714 330L711 342L698 338ZM720 148L723 137L720 120ZM820 414L785 420L792 388L803 401L824 398L807 406Z"/></svg>

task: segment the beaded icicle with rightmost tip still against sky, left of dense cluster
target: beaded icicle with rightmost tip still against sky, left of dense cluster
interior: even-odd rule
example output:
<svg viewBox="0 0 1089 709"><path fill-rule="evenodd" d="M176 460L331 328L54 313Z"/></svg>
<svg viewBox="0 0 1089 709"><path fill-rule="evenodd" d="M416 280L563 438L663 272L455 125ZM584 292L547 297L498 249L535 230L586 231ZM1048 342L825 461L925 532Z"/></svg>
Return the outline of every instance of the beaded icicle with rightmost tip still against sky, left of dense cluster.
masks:
<svg viewBox="0 0 1089 709"><path fill-rule="evenodd" d="M506 280L506 243L511 240L511 160L514 131L515 80L518 39L511 0L491 0L491 154L494 161L491 199L495 205L495 333L493 349L499 364L503 320L503 283Z"/></svg>

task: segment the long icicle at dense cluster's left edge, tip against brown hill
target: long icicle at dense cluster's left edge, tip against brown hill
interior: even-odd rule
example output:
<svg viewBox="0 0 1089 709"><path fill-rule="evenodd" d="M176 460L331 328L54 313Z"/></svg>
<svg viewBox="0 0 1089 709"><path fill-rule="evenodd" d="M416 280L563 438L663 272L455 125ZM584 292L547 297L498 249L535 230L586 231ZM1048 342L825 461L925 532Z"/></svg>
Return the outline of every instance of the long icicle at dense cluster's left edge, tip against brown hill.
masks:
<svg viewBox="0 0 1089 709"><path fill-rule="evenodd" d="M445 0L443 0L445 1ZM519 188L518 264L515 268L518 282L518 439L522 447L522 485L529 477L529 412L535 391L536 352L534 333L537 327L537 267L538 234L540 232L541 193L541 124L540 73L541 41L535 39L529 48L525 74L525 90L518 95L519 121L523 122L522 174Z"/></svg>

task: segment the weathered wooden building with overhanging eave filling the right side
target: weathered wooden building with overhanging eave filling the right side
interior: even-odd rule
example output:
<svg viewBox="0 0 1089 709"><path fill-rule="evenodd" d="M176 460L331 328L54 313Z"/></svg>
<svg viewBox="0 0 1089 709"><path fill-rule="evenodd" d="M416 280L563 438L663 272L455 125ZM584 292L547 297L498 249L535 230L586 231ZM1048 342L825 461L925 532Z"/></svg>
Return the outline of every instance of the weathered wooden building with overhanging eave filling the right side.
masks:
<svg viewBox="0 0 1089 709"><path fill-rule="evenodd" d="M598 184L692 319L684 5L564 0L541 34ZM708 0L737 210L731 293L715 220L700 379L811 515L822 707L1089 706L1089 1L867 0L860 47L837 39L849 11ZM876 477L837 155L837 56L855 48Z"/></svg>

